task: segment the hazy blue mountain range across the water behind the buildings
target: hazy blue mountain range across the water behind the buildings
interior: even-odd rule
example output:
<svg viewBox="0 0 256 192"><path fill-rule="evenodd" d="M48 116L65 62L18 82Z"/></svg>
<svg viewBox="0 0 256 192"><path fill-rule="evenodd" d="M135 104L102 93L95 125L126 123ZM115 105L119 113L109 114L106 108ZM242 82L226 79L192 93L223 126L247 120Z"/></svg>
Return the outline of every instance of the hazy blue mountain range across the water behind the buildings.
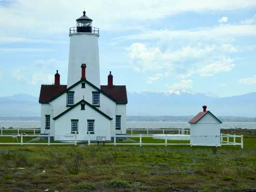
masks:
<svg viewBox="0 0 256 192"><path fill-rule="evenodd" d="M202 105L207 105L216 116L256 117L256 92L230 97L183 91L128 92L127 115L194 116L202 110ZM38 97L26 94L0 97L0 116L40 116Z"/></svg>

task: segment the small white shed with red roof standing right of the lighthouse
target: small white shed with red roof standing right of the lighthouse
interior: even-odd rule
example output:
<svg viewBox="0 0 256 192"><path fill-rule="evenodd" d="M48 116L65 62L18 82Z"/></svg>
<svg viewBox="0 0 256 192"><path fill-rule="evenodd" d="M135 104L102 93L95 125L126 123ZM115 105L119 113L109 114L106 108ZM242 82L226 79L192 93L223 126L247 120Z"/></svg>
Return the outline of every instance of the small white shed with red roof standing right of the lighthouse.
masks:
<svg viewBox="0 0 256 192"><path fill-rule="evenodd" d="M207 106L203 106L203 111L188 122L190 123L190 143L191 145L221 146L220 123L222 122L206 108Z"/></svg>

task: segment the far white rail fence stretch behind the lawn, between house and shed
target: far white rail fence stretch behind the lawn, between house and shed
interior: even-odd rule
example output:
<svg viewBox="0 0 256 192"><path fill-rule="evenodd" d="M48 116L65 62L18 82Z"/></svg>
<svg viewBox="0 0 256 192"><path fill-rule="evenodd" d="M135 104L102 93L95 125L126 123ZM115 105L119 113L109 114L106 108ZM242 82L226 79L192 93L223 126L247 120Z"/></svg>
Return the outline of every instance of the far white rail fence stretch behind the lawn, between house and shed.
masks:
<svg viewBox="0 0 256 192"><path fill-rule="evenodd" d="M130 134L127 134L130 132ZM145 134L142 134L141 132L144 132ZM153 132L153 133L152 133ZM150 136L153 134L156 134L156 132L160 132L161 134L173 134L173 135L189 135L190 129L189 128L159 128L159 129L138 129L138 128L127 128L126 129L126 135L127 136L136 136L136 135L146 135ZM168 133L169 132L169 133Z"/></svg>

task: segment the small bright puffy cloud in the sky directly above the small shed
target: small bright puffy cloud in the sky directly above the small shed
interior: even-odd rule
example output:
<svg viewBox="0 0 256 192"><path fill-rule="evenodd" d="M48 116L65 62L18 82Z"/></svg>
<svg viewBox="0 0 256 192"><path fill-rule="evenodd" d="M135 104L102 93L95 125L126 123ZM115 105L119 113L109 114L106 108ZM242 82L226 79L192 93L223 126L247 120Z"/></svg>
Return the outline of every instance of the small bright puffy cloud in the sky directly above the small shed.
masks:
<svg viewBox="0 0 256 192"><path fill-rule="evenodd" d="M220 61L210 63L204 66L202 69L199 69L199 75L202 77L213 76L214 74L220 72L231 71L235 67L233 60L230 58L224 58Z"/></svg>

